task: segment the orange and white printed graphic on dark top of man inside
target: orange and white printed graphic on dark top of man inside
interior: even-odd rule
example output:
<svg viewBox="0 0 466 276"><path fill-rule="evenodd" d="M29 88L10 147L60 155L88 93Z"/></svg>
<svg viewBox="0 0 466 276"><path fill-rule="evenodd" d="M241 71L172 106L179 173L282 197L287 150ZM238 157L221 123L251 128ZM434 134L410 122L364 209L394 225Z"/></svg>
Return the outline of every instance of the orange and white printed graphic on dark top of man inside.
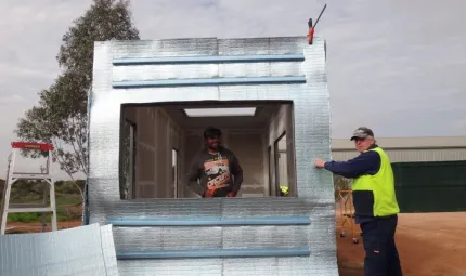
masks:
<svg viewBox="0 0 466 276"><path fill-rule="evenodd" d="M204 162L204 171L208 179L208 189L230 186L231 174L229 159L209 159Z"/></svg>

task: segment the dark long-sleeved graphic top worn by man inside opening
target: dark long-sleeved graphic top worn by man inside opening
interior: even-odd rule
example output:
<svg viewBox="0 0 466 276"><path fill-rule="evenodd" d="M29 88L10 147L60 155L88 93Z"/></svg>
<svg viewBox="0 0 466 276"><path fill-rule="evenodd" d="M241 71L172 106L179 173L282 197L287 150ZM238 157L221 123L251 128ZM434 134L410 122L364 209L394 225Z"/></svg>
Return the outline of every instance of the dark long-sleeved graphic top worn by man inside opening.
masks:
<svg viewBox="0 0 466 276"><path fill-rule="evenodd" d="M221 148L215 155L207 150L200 152L187 174L189 186L200 196L204 196L206 189L215 190L216 197L224 197L230 192L236 194L242 182L243 170L240 162L226 148Z"/></svg>

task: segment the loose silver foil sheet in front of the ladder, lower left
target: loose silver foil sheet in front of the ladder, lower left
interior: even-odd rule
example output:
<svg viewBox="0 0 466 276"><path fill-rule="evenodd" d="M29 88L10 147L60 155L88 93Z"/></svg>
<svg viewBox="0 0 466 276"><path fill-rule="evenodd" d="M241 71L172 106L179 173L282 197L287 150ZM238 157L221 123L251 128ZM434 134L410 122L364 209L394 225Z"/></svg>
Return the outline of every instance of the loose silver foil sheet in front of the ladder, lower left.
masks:
<svg viewBox="0 0 466 276"><path fill-rule="evenodd" d="M0 236L2 276L118 276L112 226Z"/></svg>

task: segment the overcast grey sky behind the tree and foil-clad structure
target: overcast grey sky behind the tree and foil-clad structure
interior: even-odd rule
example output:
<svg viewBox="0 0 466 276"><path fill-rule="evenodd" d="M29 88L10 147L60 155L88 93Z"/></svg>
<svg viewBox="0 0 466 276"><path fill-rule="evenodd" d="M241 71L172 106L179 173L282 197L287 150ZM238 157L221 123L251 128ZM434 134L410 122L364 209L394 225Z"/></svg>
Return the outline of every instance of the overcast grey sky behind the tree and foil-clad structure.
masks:
<svg viewBox="0 0 466 276"><path fill-rule="evenodd" d="M142 39L307 34L323 0L132 0ZM333 137L466 135L464 0L328 0ZM62 36L90 0L0 1L0 166L13 129L59 73ZM0 178L4 173L0 168ZM57 176L64 175L60 173Z"/></svg>

